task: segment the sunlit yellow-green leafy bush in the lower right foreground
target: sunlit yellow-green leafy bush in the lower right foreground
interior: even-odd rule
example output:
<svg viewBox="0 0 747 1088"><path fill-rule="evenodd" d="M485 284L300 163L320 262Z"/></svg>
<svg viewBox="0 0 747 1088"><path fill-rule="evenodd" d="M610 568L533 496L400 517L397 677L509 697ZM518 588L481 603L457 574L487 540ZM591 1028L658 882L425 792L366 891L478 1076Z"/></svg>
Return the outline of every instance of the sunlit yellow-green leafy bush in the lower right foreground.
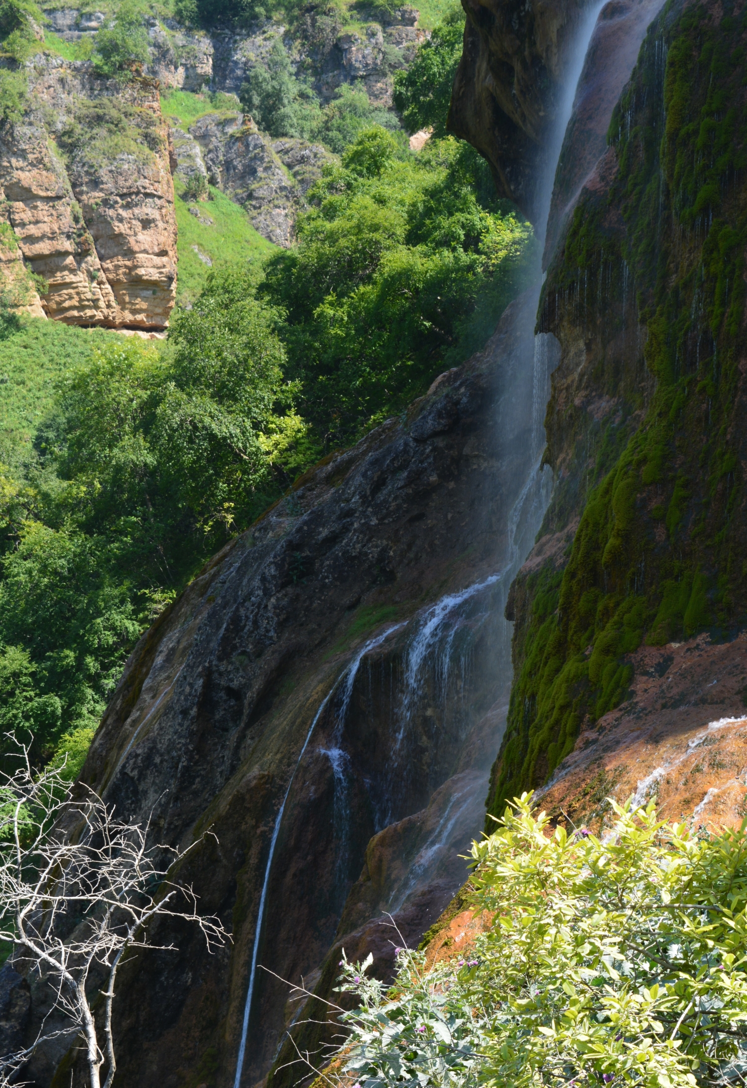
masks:
<svg viewBox="0 0 747 1088"><path fill-rule="evenodd" d="M695 1088L738 1083L747 1021L747 834L698 837L653 803L605 841L524 794L473 845L493 923L466 960L399 950L393 990L344 961L360 1007L346 1073L399 1085Z"/></svg>

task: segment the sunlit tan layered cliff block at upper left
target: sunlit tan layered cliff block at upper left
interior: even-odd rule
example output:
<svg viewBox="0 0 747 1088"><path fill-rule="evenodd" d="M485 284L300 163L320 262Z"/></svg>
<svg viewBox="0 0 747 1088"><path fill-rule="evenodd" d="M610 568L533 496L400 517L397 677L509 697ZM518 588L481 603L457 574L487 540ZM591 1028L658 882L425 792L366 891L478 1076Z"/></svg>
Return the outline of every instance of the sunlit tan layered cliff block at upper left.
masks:
<svg viewBox="0 0 747 1088"><path fill-rule="evenodd" d="M89 64L54 59L32 70L29 90L23 122L0 132L0 186L26 268L47 282L45 312L72 324L162 329L176 292L176 221L158 89L147 81L123 89ZM151 147L99 162L63 157L53 140L82 98L140 111Z"/></svg>

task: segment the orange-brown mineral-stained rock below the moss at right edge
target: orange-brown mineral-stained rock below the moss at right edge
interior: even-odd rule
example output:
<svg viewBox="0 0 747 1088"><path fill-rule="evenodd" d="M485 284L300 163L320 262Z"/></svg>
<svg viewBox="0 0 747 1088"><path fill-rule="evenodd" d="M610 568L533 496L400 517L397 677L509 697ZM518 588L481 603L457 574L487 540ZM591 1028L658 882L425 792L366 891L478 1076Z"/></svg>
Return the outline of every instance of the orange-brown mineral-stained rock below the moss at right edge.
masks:
<svg viewBox="0 0 747 1088"><path fill-rule="evenodd" d="M664 819L738 826L747 815L747 635L707 634L634 655L632 696L582 731L540 807L600 830L605 799L658 798ZM608 809L609 811L609 809Z"/></svg>

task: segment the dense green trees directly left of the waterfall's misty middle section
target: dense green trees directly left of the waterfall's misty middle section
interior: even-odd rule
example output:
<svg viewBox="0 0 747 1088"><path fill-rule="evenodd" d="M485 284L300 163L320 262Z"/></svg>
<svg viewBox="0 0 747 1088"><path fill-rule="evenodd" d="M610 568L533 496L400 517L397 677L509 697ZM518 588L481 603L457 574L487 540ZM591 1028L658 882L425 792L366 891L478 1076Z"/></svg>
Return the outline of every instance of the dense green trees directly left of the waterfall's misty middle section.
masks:
<svg viewBox="0 0 747 1088"><path fill-rule="evenodd" d="M310 191L298 245L266 262L260 294L284 311L287 373L326 445L462 361L522 286L531 228L481 203L472 168L455 140L413 157L369 129Z"/></svg>

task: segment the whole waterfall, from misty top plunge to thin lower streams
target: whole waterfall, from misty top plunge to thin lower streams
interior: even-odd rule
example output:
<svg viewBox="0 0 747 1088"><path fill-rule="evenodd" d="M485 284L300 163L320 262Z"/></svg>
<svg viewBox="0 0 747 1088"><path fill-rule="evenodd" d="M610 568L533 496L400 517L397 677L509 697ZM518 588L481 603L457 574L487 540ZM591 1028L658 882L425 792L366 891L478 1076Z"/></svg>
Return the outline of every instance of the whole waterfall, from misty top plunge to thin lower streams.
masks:
<svg viewBox="0 0 747 1088"><path fill-rule="evenodd" d="M602 8L602 2L597 0L578 21L575 33L575 48L569 63L567 73L567 84L564 94L556 114L556 125L546 152L546 170L540 172L537 182L535 207L539 209L538 223L535 230L539 240L544 240L547 230L547 219L550 209L552 185L555 174L560 158L563 136L571 118L576 86L583 69L584 59L588 44L597 21L597 16ZM537 279L540 276L539 262L537 267ZM536 285L535 285L536 286ZM535 294L533 298L536 298ZM560 346L551 334L539 333L534 335L535 308L526 305L520 306L514 312L516 329L523 346L528 344L528 358L524 367L516 364L514 371L509 373L507 369L507 388L505 395L505 412L511 419L518 412L526 412L527 424L522 438L523 446L521 454L521 468L516 468L513 478L510 480L510 489L507 487L506 515L506 547L497 564L499 567L495 573L483 577L481 580L466 586L460 592L445 594L439 601L425 608L420 615L409 621L409 630L412 631L408 640L402 656L401 690L399 695L393 688L393 734L390 738L390 750L387 753L387 771L385 780L377 783L383 801L376 814L376 830L402 818L400 809L404 811L411 801L408 791L411 783L408 780L408 726L412 722L413 716L423 701L426 688L427 670L436 678L438 689L438 702L441 704L444 713L448 702L449 684L453 681L455 655L458 656L462 671L462 691L464 689L463 678L469 671L468 660L470 646L474 644L476 632L488 620L499 625L500 638L498 640L498 652L493 668L496 673L505 680L506 689L511 677L511 626L503 619L503 611L507 603L509 588L515 578L520 567L524 562L534 544L535 537L540 529L543 519L550 500L552 474L549 468L543 466L545 450L545 429L544 418L549 398L550 374L559 361ZM522 355L522 359L524 356ZM522 369L523 368L523 369ZM528 380L531 379L531 390ZM512 420L515 424L515 420ZM510 430L510 429L509 429ZM514 426L515 430L515 426ZM513 434L513 432L512 432ZM507 438L510 445L512 437ZM511 449L515 454L515 449ZM328 742L328 746L320 749L329 761L329 767L334 782L334 820L333 830L335 833L335 849L337 851L336 868L337 880L340 887L347 891L347 870L349 868L350 843L349 843L349 809L350 809L350 788L352 783L353 767L350 753L346 751L345 726L350 707L354 684L359 676L360 666L373 650L379 647L383 642L394 632L401 630L406 623L398 623L387 628L385 631L366 642L348 664L345 670L335 681L332 690L320 705L313 721L306 735L306 740L298 756L288 784L286 787L281 807L275 818L270 852L264 869L264 880L260 895L259 910L257 915L254 939L249 969L249 986L244 1006L241 1038L236 1064L236 1075L234 1088L240 1088L244 1062L246 1055L247 1036L251 1014L252 999L254 994L254 984L257 975L257 962L259 947L264 922L267 887L271 876L273 857L278 840L281 824L286 808L294 778L300 766L304 752L311 741L314 729L325 710L331 704L333 695L337 692L339 702L337 706L332 704L335 714L335 725ZM465 630L466 635L462 643L459 643L460 631ZM435 718L432 720L436 720ZM437 740L438 725L433 727L433 740ZM494 738L496 744L500 737ZM487 768L485 768L487 775ZM443 781L441 783L443 784ZM431 838L420 844L416 857L408 874L404 888L400 890L398 903L415 889L418 880L423 875L427 875L433 860L443 853L445 845L450 841L450 836L459 819L474 813L474 833L480 830L480 809L484 814L484 789L482 793L475 792L474 787L465 789L463 793L455 793L438 819ZM412 807L404 815L412 813Z"/></svg>

